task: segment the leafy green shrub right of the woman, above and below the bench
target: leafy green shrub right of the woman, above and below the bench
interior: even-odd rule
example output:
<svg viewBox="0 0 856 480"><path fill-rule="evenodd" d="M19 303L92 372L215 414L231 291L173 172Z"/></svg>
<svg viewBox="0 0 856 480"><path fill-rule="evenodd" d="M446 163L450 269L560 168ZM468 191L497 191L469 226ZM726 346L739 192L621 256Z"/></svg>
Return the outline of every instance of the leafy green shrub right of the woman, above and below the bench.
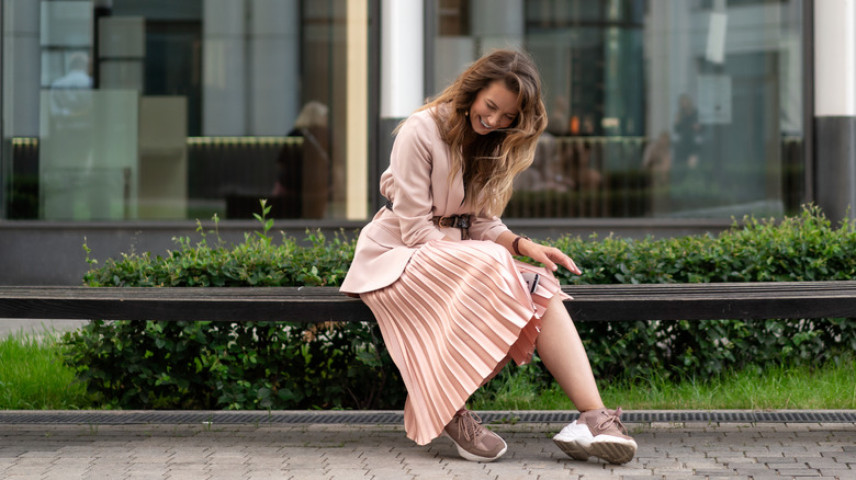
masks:
<svg viewBox="0 0 856 480"><path fill-rule="evenodd" d="M596 240L596 239L594 239ZM564 237L556 245L584 273L562 283L835 281L856 277L856 224L833 228L816 207L781 221L744 218L712 236L654 240ZM586 265L592 265L586 268ZM700 376L730 368L836 361L856 348L854 319L579 323L599 377Z"/></svg>

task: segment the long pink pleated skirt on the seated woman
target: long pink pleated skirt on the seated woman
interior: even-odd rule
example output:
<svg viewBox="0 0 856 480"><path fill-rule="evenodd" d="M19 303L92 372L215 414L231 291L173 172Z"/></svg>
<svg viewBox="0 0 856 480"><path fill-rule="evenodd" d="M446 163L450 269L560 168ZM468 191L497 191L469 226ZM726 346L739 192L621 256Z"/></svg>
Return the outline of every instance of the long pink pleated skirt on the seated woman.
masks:
<svg viewBox="0 0 856 480"><path fill-rule="evenodd" d="M532 294L527 271L541 275ZM477 240L431 241L398 281L361 294L407 388L407 436L431 442L500 363L531 361L554 295L570 298L545 268Z"/></svg>

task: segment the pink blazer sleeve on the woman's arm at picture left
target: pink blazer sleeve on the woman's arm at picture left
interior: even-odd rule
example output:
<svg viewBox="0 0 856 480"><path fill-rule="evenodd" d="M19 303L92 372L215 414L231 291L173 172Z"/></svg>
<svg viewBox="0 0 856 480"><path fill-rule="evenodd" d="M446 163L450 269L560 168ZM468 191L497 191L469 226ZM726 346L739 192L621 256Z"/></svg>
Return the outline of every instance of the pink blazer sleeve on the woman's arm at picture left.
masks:
<svg viewBox="0 0 856 480"><path fill-rule="evenodd" d="M431 169L437 126L430 115L412 115L402 125L393 144L390 169L395 179L393 208L402 230L402 241L417 247L443 238L433 225Z"/></svg>

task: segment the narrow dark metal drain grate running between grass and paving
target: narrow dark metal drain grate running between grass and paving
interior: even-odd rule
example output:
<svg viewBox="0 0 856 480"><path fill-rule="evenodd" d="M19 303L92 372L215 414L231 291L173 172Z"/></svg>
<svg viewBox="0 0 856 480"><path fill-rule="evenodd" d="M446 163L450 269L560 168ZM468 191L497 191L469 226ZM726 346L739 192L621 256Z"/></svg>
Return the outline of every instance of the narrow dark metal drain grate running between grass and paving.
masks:
<svg viewBox="0 0 856 480"><path fill-rule="evenodd" d="M485 423L570 423L576 420L576 412L521 411L480 412ZM401 411L349 411L349 412L211 412L211 411L150 411L150 412L0 412L0 424L351 424L388 425L402 424ZM626 423L856 423L856 411L645 411L624 412Z"/></svg>

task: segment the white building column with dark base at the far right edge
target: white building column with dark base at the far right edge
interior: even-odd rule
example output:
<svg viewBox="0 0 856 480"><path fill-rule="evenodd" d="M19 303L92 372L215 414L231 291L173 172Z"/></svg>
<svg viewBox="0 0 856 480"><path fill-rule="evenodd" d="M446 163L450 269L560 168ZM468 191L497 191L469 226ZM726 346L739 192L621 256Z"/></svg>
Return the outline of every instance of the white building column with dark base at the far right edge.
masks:
<svg viewBox="0 0 856 480"><path fill-rule="evenodd" d="M856 218L856 0L813 3L814 198L837 222Z"/></svg>

